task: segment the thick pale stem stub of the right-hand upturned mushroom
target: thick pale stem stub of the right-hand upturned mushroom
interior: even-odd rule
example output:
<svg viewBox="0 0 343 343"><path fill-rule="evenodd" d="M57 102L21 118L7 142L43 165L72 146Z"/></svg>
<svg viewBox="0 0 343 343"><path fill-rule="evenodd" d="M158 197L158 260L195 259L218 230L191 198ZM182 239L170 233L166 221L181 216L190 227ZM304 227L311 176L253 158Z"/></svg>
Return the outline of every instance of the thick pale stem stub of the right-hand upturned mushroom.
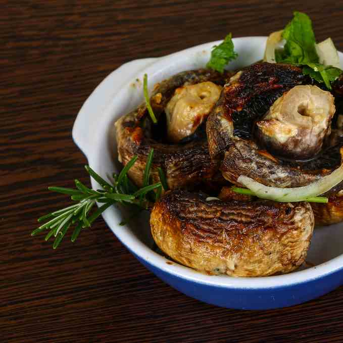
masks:
<svg viewBox="0 0 343 343"><path fill-rule="evenodd" d="M258 139L268 151L294 159L314 157L331 133L334 98L315 85L284 92L263 120L256 123Z"/></svg>

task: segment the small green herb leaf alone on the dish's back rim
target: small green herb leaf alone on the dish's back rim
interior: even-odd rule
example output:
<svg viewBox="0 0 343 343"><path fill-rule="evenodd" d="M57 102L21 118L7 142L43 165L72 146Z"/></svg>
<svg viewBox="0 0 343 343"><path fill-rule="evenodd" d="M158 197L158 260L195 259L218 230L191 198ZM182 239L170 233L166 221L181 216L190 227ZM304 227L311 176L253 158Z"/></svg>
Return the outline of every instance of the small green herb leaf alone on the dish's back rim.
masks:
<svg viewBox="0 0 343 343"><path fill-rule="evenodd" d="M211 59L206 67L224 72L224 67L231 61L237 58L238 54L233 50L232 35L229 33L224 41L219 45L215 45L211 52Z"/></svg>

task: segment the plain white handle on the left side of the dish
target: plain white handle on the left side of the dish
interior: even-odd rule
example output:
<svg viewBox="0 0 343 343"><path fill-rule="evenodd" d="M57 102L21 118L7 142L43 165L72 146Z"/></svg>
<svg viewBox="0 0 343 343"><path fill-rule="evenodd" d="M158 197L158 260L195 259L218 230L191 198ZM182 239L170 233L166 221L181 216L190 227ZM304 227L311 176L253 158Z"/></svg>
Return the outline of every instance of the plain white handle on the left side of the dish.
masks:
<svg viewBox="0 0 343 343"><path fill-rule="evenodd" d="M108 75L89 95L82 105L73 126L74 142L88 159L94 139L94 128L102 119L105 108L115 94L140 71L155 62L156 58L134 60L123 64ZM113 83L116 79L118 82Z"/></svg>

